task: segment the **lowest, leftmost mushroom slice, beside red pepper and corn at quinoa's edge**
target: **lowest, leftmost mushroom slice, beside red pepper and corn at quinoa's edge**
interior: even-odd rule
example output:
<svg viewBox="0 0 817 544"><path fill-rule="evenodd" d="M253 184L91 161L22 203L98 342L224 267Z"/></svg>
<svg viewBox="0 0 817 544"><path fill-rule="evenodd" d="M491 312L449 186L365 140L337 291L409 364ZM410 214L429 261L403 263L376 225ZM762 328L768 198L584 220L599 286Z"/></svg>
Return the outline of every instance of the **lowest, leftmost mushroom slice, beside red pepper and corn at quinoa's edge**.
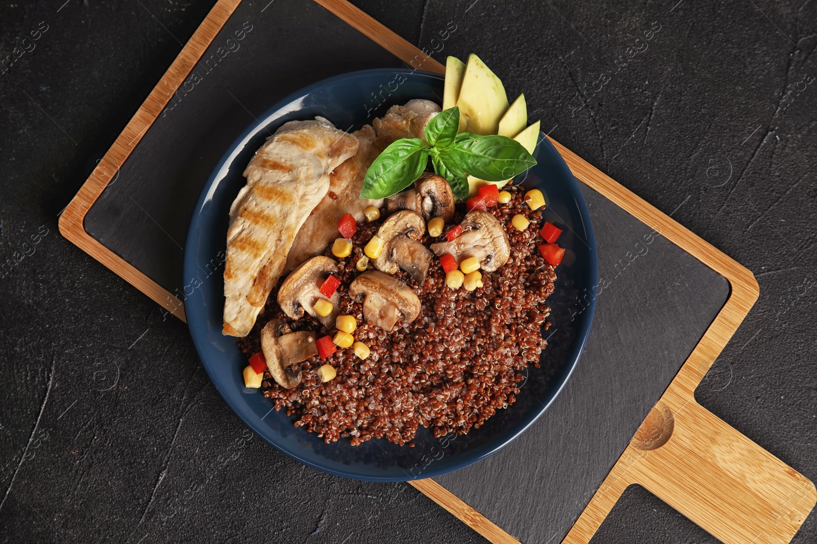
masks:
<svg viewBox="0 0 817 544"><path fill-rule="evenodd" d="M292 389L301 383L298 363L315 355L318 347L314 333L308 330L293 333L283 321L274 319L261 329L261 351L275 382L284 389Z"/></svg>

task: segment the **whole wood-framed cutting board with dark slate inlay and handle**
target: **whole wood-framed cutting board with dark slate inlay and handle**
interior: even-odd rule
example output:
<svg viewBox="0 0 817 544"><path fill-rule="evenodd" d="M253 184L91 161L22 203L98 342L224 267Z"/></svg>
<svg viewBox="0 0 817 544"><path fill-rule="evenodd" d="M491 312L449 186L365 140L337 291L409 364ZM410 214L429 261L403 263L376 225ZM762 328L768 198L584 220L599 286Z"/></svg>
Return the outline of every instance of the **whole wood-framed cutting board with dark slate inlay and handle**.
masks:
<svg viewBox="0 0 817 544"><path fill-rule="evenodd" d="M285 24L277 27L263 24L283 20ZM247 21L252 21L251 30ZM332 66L310 68L305 62L310 59L309 46L300 47L306 51L286 49L284 38L288 32L304 33L313 27L324 35L333 33L350 54ZM244 38L238 40L236 33L242 31ZM230 48L232 52L220 57L225 62L218 68L219 81L205 77L202 83L185 87L200 61L211 59L227 39L240 42L243 51ZM259 51L276 52L268 56L277 60L265 57L279 63L270 64L279 74L270 83L292 87L276 88L281 96L315 78L394 66L396 60L411 69L443 71L436 60L347 2L276 0L266 6L217 2L60 217L65 237L181 319L183 307L174 293L184 284L177 281L181 273L174 272L173 263L178 262L181 269L178 250L191 209L181 206L190 212L187 215L178 206L170 212L157 196L172 196L176 202L188 193L195 197L212 161L188 157L185 166L192 164L193 170L176 179L163 177L163 170L175 165L174 153L183 152L177 141L172 144L173 135L180 127L208 130L206 122L195 124L197 112L207 107L211 117L220 113L226 119L220 127L229 143L234 138L230 130L241 130L251 121L239 117L242 112L263 111L261 106L269 104L248 103L235 89L239 93L233 97L235 104L226 109L213 106L208 95L230 81L230 74L240 77L241 67L257 61ZM220 146L223 149L219 137L203 145L219 153ZM614 289L605 294L607 299L599 300L577 374L534 427L482 462L411 484L492 542L559 542L556 537L563 537L563 542L589 542L630 484L641 484L723 542L789 542L815 505L814 485L694 400L695 387L757 299L757 282L739 263L553 143L585 185L600 240L600 262L605 255L615 261L625 254L628 249L622 239L637 239L648 232L658 240L650 245L655 257L636 261L637 267L628 268L620 278L614 276ZM167 153L168 148L172 153ZM201 172L204 178L198 179ZM613 225L620 236L605 240ZM600 276L605 273L600 271ZM681 287L672 287L676 284ZM685 305L690 296L701 299L694 306ZM602 312L605 304L627 307L626 316L616 316L614 310ZM678 315L688 316L689 323L662 326ZM625 325L643 327L650 334L642 334L637 346L619 341L624 345L603 352L616 338L624 338ZM612 365L620 367L611 370ZM625 375L632 379L617 385L616 376ZM607 396L602 391L605 387ZM627 409L622 413L611 415L605 413L605 406L588 410L591 396L630 401L623 403ZM615 402L608 403L607 409L610 405ZM516 470L527 470L535 464L534 457L543 469L551 467L547 478ZM586 470L575 468L580 464ZM552 468L563 466L570 468ZM422 467L417 475L422 476ZM502 491L508 488L525 492Z"/></svg>

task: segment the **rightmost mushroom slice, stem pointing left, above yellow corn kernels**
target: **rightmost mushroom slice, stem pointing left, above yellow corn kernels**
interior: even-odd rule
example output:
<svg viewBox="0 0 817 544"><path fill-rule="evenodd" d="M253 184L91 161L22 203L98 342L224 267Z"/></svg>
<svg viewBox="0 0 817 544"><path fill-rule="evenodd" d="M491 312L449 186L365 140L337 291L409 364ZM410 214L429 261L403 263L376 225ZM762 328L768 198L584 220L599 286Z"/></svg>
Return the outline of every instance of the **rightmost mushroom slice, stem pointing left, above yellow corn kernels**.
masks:
<svg viewBox="0 0 817 544"><path fill-rule="evenodd" d="M476 210L460 223L462 234L452 241L431 244L437 255L451 254L457 262L476 257L484 272L493 272L511 256L508 235L497 218L487 211Z"/></svg>

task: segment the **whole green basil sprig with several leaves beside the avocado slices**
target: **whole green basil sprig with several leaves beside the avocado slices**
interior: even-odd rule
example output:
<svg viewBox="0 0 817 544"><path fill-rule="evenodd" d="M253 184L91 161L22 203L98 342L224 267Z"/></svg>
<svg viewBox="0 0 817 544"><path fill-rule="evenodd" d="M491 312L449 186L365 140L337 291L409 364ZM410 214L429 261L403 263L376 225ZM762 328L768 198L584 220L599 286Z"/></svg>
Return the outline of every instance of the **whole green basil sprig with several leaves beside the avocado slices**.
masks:
<svg viewBox="0 0 817 544"><path fill-rule="evenodd" d="M481 136L459 130L459 108L446 109L426 125L426 142L403 138L383 150L364 178L361 198L386 198L402 191L426 170L428 158L437 175L448 180L454 197L468 197L467 175L504 181L536 164L528 150L506 136Z"/></svg>

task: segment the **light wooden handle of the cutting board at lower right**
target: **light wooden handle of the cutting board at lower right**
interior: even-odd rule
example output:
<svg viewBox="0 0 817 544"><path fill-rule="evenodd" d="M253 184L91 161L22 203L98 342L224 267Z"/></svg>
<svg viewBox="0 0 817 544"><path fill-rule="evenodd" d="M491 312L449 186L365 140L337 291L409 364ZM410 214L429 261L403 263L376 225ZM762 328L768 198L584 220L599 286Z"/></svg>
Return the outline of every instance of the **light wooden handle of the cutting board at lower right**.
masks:
<svg viewBox="0 0 817 544"><path fill-rule="evenodd" d="M810 480L694 400L659 402L627 449L640 460L627 480L726 544L788 543L817 501Z"/></svg>

